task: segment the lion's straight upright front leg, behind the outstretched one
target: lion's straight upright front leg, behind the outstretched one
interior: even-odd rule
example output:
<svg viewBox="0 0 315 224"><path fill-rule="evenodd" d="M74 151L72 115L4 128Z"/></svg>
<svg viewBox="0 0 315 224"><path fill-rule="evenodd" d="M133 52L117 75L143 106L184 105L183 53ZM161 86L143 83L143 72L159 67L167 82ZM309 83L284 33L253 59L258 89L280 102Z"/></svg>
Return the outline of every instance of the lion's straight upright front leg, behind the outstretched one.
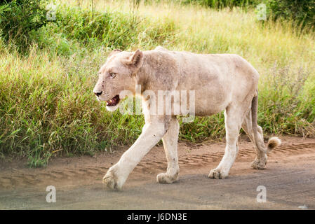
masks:
<svg viewBox="0 0 315 224"><path fill-rule="evenodd" d="M178 180L178 174L180 173L177 156L177 140L179 130L180 125L174 116L170 121L170 127L168 128L168 131L162 138L164 151L168 160L168 169L166 173L161 173L156 176L156 181L158 183L173 183Z"/></svg>

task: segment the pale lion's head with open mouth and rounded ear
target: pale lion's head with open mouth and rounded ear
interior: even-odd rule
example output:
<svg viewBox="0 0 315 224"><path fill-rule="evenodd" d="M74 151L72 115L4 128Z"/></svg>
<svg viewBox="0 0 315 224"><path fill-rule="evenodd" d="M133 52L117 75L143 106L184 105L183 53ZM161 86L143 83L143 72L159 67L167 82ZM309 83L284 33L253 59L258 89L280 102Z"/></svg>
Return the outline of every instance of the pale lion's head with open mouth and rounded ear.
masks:
<svg viewBox="0 0 315 224"><path fill-rule="evenodd" d="M93 90L98 100L106 102L107 110L114 111L118 108L119 102L125 97L121 94L123 90L135 93L135 73L142 66L142 61L141 50L113 50L107 57Z"/></svg>

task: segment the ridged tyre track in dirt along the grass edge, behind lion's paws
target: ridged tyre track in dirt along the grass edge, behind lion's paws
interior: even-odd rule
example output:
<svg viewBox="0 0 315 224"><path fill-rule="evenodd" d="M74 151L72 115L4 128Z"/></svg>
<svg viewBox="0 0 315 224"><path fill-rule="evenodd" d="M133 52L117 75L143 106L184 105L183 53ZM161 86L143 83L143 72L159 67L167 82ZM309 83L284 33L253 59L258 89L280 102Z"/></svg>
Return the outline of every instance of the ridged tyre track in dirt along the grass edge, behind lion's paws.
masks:
<svg viewBox="0 0 315 224"><path fill-rule="evenodd" d="M287 144L279 146L272 151L271 157L276 158L282 155L300 155L315 152L315 143L309 144ZM222 159L224 152L203 153L200 155L184 155L179 159L180 167L201 167L210 162L218 162ZM240 148L236 161L253 160L255 158L254 148ZM166 159L142 161L135 167L134 172L143 174L152 174L156 172L165 172L167 168ZM10 189L27 186L43 186L46 183L60 183L62 181L89 181L98 180L103 176L108 166L88 165L78 168L62 168L52 171L35 171L34 174L23 173L22 171L12 174L0 174L0 189ZM91 183L89 181L88 183Z"/></svg>

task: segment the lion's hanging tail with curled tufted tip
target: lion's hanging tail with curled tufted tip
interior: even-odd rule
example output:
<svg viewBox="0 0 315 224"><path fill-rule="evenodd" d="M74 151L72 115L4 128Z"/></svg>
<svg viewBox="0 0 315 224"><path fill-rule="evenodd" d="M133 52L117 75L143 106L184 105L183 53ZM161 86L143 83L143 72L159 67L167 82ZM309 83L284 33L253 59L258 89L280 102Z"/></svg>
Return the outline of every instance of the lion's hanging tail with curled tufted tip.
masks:
<svg viewBox="0 0 315 224"><path fill-rule="evenodd" d="M264 145L264 139L262 137L262 130L260 130L261 133L258 132L257 108L258 108L258 96L256 95L255 97L253 97L253 100L252 100L252 125L253 125L253 136L255 140L255 145L263 153L269 153L274 148L281 145L281 140L278 137L270 138L267 144L267 148L266 148L266 146Z"/></svg>

